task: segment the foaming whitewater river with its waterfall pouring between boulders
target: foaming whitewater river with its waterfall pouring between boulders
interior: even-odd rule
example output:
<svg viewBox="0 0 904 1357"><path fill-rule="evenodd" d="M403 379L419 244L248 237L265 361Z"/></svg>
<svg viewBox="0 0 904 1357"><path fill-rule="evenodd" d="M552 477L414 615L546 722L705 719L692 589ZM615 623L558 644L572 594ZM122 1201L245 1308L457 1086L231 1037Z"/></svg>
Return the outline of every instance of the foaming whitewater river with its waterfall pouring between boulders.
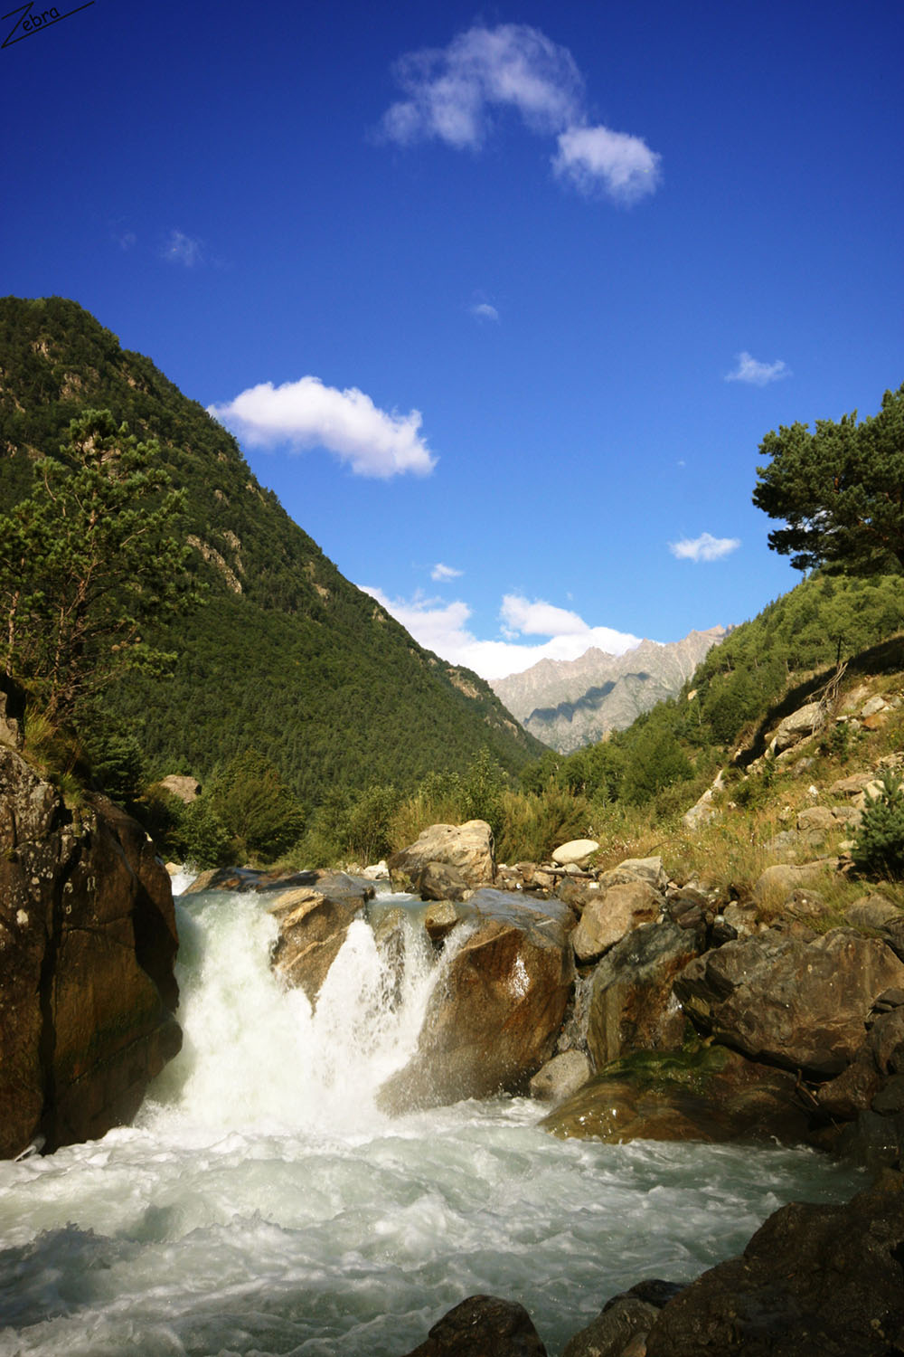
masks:
<svg viewBox="0 0 904 1357"><path fill-rule="evenodd" d="M0 1164L0 1357L400 1357L476 1292L556 1354L614 1292L857 1185L804 1151L561 1143L526 1099L389 1120L430 949L412 934L390 1001L352 924L312 1018L270 974L259 896L178 912L186 1042L138 1124Z"/></svg>

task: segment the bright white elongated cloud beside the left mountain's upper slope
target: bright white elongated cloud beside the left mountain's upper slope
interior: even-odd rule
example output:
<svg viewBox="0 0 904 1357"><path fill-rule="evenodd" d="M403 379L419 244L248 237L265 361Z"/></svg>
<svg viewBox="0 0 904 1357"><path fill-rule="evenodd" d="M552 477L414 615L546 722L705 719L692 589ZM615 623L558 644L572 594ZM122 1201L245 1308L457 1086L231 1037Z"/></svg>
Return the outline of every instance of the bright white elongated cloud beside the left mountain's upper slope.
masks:
<svg viewBox="0 0 904 1357"><path fill-rule="evenodd" d="M356 387L339 391L319 377L281 387L263 381L207 413L255 446L327 448L359 476L424 476L436 464L420 436L419 410L388 414Z"/></svg>

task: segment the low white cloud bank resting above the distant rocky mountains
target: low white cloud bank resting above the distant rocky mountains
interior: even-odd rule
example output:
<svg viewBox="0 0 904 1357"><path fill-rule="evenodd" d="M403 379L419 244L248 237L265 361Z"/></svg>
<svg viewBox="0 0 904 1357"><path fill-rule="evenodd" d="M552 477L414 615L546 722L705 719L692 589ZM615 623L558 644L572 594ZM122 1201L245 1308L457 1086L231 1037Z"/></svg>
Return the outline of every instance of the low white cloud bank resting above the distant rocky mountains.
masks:
<svg viewBox="0 0 904 1357"><path fill-rule="evenodd" d="M482 678L504 678L507 674L530 669L539 660L577 660L598 646L621 655L640 645L638 636L614 631L611 627L590 627L576 613L542 601L529 603L518 596L503 600L500 616L508 623L504 641L478 641L468 628L472 611L466 603L443 603L415 594L413 598L389 598L381 589L361 586L427 650L432 650L454 665L465 665ZM546 631L546 626L561 626ZM529 630L533 628L533 630ZM519 643L518 635L548 635L542 645Z"/></svg>

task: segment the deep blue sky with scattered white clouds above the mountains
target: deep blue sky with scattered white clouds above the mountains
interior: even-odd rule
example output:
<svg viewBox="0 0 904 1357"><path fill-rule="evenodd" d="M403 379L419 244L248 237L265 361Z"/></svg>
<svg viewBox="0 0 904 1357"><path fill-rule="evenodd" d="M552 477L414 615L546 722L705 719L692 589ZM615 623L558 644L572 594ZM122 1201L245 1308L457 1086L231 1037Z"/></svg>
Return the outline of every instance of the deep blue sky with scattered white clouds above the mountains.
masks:
<svg viewBox="0 0 904 1357"><path fill-rule="evenodd" d="M487 677L739 623L798 578L751 505L763 436L904 380L901 15L31 18L0 50L3 292L149 354Z"/></svg>

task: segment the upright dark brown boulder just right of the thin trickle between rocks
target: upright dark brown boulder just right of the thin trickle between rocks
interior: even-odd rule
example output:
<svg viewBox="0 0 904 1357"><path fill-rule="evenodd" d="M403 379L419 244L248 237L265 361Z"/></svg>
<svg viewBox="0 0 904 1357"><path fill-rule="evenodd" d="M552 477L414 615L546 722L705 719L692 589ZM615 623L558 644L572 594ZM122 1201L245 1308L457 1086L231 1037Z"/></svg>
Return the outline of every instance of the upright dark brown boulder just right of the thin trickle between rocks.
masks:
<svg viewBox="0 0 904 1357"><path fill-rule="evenodd" d="M625 889L615 886L610 894ZM598 1069L634 1050L682 1045L684 1014L672 985L701 951L703 938L702 923L697 928L642 924L603 957L591 981L587 1033Z"/></svg>

